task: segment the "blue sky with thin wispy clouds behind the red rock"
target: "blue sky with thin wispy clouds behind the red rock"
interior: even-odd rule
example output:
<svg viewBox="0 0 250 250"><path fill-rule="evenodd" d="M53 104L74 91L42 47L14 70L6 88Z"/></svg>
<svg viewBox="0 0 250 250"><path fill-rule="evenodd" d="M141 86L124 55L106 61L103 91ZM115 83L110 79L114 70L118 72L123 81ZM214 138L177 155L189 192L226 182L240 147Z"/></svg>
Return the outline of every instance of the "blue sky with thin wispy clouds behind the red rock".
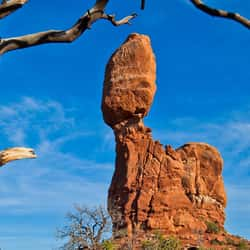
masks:
<svg viewBox="0 0 250 250"><path fill-rule="evenodd" d="M1 37L64 29L94 1L35 1L1 21ZM250 17L249 1L207 0ZM216 5L217 2L217 5ZM220 6L218 6L220 2ZM72 44L44 45L0 59L0 148L29 146L39 158L0 172L0 247L48 250L74 203L104 204L114 138L100 110L105 64L129 33L151 36L158 91L145 120L155 139L178 147L208 142L224 158L226 229L250 238L250 33L200 13L188 0L111 1L132 26L105 21Z"/></svg>

